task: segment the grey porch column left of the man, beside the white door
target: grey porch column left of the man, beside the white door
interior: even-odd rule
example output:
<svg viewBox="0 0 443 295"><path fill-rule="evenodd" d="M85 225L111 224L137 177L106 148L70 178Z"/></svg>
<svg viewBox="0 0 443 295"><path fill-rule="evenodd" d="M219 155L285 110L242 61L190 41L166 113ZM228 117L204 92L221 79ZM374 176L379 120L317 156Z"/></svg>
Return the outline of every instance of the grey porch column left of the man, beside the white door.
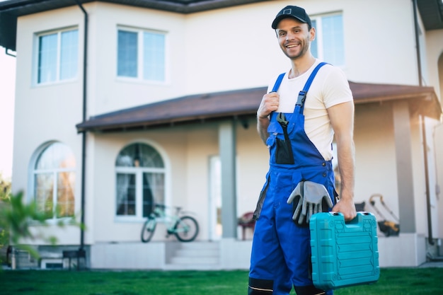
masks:
<svg viewBox="0 0 443 295"><path fill-rule="evenodd" d="M219 125L219 152L222 163L222 238L237 236L235 127L234 120Z"/></svg>

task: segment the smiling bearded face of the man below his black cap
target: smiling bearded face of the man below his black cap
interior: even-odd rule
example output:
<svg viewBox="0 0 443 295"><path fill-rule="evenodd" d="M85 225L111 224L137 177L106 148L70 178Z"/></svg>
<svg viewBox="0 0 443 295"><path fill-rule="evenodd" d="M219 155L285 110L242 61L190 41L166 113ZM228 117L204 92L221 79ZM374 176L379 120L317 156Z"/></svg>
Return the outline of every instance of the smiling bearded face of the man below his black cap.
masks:
<svg viewBox="0 0 443 295"><path fill-rule="evenodd" d="M307 23L295 18L283 18L275 29L280 48L290 59L303 57L309 51L309 45L315 37L315 29L308 29Z"/></svg>

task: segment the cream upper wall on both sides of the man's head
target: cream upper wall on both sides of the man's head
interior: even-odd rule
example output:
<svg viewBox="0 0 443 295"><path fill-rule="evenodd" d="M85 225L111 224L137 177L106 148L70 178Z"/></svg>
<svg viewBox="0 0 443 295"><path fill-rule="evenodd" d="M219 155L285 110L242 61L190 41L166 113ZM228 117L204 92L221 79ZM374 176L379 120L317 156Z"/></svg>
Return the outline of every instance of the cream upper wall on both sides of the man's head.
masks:
<svg viewBox="0 0 443 295"><path fill-rule="evenodd" d="M348 79L418 84L410 1L269 1L188 16L188 92L263 86L289 69L270 23L294 4L311 16L343 11Z"/></svg>

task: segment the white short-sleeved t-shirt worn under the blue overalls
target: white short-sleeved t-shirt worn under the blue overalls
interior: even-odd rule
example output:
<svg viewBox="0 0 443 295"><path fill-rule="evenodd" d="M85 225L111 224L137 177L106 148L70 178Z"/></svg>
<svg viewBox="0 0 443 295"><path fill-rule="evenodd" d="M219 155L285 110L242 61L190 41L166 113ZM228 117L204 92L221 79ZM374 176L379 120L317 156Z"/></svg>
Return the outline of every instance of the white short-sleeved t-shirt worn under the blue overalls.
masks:
<svg viewBox="0 0 443 295"><path fill-rule="evenodd" d="M309 75L311 75L313 69L319 63L320 61L316 59L311 69L294 79L288 79L289 72L284 75L280 88L277 91L280 95L277 112L294 112L299 91L303 89ZM270 85L267 88L268 93L272 91L276 80L277 76L270 81ZM330 64L322 66L313 79L306 95L304 103L304 130L308 138L327 161L333 157L331 144L334 132L326 109L352 100L352 92L345 73L340 68Z"/></svg>

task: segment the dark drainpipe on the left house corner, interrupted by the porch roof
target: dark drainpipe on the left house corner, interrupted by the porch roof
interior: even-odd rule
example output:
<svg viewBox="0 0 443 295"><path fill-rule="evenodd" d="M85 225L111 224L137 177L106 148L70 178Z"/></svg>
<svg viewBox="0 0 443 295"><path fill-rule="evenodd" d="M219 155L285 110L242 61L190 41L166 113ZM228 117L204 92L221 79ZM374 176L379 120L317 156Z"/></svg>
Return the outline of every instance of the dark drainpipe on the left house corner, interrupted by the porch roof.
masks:
<svg viewBox="0 0 443 295"><path fill-rule="evenodd" d="M83 122L86 121L86 62L88 60L88 13L81 5L79 0L75 0L77 5L83 11L84 20L84 45L83 45ZM86 180L86 131L81 132L81 209L80 209L80 248L84 251L84 224L85 224L85 180Z"/></svg>

